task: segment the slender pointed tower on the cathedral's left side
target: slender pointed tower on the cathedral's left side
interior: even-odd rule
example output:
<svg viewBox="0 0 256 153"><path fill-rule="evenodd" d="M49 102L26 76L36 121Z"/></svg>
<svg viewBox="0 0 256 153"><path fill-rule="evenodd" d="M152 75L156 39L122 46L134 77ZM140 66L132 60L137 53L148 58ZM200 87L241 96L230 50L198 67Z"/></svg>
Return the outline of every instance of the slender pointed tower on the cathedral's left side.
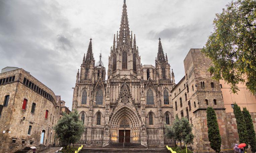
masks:
<svg viewBox="0 0 256 153"><path fill-rule="evenodd" d="M83 63L81 64L81 71L80 71L80 80L91 80L92 78L92 72L94 69L95 61L92 53L91 40L92 39L90 39L86 57L85 57L85 54L83 56Z"/></svg>

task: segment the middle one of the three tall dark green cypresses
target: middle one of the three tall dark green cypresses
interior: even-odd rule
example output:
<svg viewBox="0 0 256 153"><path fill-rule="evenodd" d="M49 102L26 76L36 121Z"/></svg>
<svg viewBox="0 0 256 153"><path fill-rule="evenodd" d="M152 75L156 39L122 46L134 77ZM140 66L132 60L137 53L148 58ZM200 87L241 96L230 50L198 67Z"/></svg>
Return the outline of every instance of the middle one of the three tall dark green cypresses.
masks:
<svg viewBox="0 0 256 153"><path fill-rule="evenodd" d="M245 120L241 108L236 103L234 103L233 110L237 122L239 142L248 144L248 133L246 130ZM245 148L247 147L248 145Z"/></svg>

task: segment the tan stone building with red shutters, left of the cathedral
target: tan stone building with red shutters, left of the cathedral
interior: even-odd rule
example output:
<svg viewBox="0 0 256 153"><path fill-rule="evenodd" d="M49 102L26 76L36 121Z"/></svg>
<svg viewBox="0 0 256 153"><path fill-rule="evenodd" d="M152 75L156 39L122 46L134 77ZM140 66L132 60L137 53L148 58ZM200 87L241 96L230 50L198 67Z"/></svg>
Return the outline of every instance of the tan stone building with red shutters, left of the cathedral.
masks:
<svg viewBox="0 0 256 153"><path fill-rule="evenodd" d="M60 116L54 92L21 68L0 73L0 153L57 142Z"/></svg>

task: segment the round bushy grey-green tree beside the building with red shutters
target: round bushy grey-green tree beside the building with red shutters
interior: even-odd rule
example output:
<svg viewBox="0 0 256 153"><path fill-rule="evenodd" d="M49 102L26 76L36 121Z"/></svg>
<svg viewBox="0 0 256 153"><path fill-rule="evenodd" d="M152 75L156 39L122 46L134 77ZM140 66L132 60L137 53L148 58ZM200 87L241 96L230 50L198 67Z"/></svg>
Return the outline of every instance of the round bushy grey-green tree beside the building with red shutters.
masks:
<svg viewBox="0 0 256 153"><path fill-rule="evenodd" d="M70 112L69 114L62 112L63 117L58 121L54 127L57 137L60 138L60 142L65 145L76 143L80 140L81 135L84 132L83 122L79 119L77 110Z"/></svg>

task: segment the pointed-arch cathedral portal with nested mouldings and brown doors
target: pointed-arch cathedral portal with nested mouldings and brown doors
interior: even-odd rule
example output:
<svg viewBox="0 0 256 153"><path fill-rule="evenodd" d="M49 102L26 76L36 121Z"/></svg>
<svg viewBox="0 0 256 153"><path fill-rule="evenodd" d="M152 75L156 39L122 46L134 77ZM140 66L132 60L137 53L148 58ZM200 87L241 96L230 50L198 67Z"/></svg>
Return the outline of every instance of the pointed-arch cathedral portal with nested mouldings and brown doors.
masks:
<svg viewBox="0 0 256 153"><path fill-rule="evenodd" d="M140 120L132 109L124 106L110 119L111 142L140 143Z"/></svg>

